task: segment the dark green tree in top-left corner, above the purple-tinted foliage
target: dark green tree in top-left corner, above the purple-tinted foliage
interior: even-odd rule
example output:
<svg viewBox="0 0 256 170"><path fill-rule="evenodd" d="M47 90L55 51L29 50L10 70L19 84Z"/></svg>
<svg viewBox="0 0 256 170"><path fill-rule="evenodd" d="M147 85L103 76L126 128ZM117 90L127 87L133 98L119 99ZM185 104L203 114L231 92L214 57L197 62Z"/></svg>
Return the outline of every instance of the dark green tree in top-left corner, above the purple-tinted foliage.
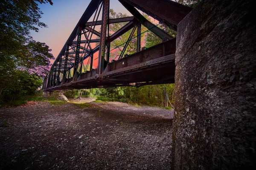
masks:
<svg viewBox="0 0 256 170"><path fill-rule="evenodd" d="M52 0L1 0L0 2L0 57L15 55L20 48L31 40L30 30L39 31L47 27L40 22L43 14L38 3Z"/></svg>

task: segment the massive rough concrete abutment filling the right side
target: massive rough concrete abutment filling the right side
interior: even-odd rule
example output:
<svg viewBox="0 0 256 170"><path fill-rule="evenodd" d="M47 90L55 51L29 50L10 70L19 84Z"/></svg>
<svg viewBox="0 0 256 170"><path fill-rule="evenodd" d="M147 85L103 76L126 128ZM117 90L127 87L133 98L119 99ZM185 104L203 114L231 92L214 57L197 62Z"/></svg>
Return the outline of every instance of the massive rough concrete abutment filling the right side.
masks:
<svg viewBox="0 0 256 170"><path fill-rule="evenodd" d="M173 167L256 167L253 0L206 0L177 30Z"/></svg>

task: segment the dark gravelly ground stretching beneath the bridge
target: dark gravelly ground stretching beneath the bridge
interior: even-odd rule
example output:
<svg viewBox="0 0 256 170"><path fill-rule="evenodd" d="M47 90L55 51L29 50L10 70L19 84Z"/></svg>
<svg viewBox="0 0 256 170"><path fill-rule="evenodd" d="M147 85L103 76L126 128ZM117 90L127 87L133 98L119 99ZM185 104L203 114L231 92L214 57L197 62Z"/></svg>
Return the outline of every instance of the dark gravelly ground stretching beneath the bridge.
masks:
<svg viewBox="0 0 256 170"><path fill-rule="evenodd" d="M171 168L172 111L119 102L0 109L1 170Z"/></svg>

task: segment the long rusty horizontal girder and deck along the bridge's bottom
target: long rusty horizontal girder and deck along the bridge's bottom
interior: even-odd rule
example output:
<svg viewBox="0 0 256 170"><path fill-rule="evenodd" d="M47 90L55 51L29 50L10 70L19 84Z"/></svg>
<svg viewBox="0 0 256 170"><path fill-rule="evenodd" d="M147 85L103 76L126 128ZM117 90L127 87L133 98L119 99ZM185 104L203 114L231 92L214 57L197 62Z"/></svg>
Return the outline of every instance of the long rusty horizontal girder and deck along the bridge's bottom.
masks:
<svg viewBox="0 0 256 170"><path fill-rule="evenodd" d="M51 88L105 88L174 83L176 38L109 62L102 74L97 69L80 74L76 80L67 79Z"/></svg>

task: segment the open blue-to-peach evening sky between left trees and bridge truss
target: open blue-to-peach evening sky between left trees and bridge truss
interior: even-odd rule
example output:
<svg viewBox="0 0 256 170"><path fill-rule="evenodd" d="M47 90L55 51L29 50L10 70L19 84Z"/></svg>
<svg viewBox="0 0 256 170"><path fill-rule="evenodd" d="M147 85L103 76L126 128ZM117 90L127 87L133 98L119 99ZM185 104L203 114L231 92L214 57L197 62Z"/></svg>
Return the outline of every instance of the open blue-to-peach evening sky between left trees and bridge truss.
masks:
<svg viewBox="0 0 256 170"><path fill-rule="evenodd" d="M31 35L34 40L45 42L52 49L51 53L56 58L90 0L52 0L52 2L53 6L49 3L39 5L44 13L41 22L47 24L48 28L40 28L39 32L32 31ZM121 12L131 16L131 13L118 0L110 0L110 8L117 13ZM101 14L99 20L101 20L100 17ZM153 18L152 21L158 23Z"/></svg>

